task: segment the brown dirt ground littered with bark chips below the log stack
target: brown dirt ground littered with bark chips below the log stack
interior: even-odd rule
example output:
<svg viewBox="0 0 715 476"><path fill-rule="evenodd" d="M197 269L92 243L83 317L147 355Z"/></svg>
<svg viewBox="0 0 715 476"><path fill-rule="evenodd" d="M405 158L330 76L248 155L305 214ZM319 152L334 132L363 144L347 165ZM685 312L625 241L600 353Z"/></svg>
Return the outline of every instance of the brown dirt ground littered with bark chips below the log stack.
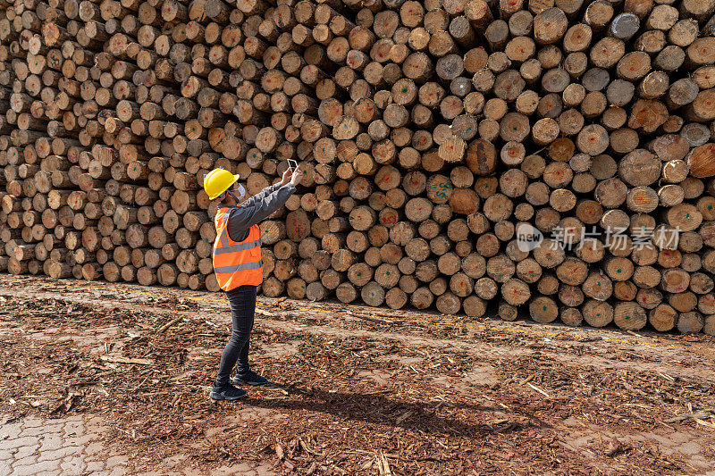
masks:
<svg viewBox="0 0 715 476"><path fill-rule="evenodd" d="M259 298L240 402L221 294L0 277L0 413L101 415L130 470L715 474L715 339Z"/></svg>

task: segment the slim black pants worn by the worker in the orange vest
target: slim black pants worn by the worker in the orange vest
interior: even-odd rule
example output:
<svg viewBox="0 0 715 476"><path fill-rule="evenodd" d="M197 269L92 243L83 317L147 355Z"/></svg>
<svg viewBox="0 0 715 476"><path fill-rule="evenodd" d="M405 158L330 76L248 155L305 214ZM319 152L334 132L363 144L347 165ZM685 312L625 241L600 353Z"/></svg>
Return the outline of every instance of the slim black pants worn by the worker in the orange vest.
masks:
<svg viewBox="0 0 715 476"><path fill-rule="evenodd" d="M248 341L253 329L253 314L256 311L256 286L239 286L226 293L231 303L231 338L221 355L215 386L229 383L231 369L237 373L248 372ZM237 364L238 363L238 364Z"/></svg>

